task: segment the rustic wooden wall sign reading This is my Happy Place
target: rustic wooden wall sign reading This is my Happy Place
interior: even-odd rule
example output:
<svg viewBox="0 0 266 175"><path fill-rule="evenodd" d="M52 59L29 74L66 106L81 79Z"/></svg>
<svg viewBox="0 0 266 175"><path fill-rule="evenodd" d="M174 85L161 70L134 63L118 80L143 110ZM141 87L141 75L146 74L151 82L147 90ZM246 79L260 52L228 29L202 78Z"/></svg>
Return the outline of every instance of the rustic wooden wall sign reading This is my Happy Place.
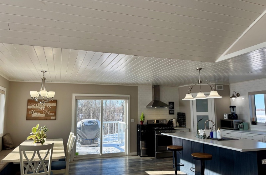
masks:
<svg viewBox="0 0 266 175"><path fill-rule="evenodd" d="M39 103L28 100L27 120L55 120L56 100Z"/></svg>

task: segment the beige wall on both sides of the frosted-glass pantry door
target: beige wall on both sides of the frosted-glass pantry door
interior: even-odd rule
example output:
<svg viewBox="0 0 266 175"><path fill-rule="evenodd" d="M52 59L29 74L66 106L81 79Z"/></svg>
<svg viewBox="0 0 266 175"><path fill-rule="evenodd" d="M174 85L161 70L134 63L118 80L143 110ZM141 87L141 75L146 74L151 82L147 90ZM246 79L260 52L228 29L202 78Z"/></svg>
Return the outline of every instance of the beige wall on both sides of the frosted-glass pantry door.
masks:
<svg viewBox="0 0 266 175"><path fill-rule="evenodd" d="M215 86L215 85L214 85ZM179 110L181 113L186 113L186 125L188 128L191 128L191 113L190 113L190 101L182 100L185 98L188 92L189 86L179 87ZM209 85L201 86L202 92L210 92L211 89ZM194 86L191 93L199 92L199 86ZM221 119L223 119L223 113L230 113L230 91L229 85L223 85L223 91L218 91L219 95L223 98L214 99L214 108L215 108L215 117L216 117L216 126L221 126Z"/></svg>

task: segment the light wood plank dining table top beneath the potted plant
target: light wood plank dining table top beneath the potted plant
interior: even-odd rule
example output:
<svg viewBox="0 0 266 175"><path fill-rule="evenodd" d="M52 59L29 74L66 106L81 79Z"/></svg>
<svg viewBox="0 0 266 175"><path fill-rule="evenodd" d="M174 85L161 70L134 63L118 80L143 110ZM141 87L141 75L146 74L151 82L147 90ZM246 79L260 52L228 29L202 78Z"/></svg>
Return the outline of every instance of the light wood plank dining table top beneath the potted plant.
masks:
<svg viewBox="0 0 266 175"><path fill-rule="evenodd" d="M52 139L46 139L46 142L44 144L54 143L53 148L53 155L52 155L52 161L57 161L60 158L65 158L65 151L64 151L64 145L63 145L63 139L62 138L52 138ZM25 140L21 143L21 145L34 145L32 140ZM43 150L43 152L40 151L40 155L44 157L46 151ZM33 152L26 153L28 157L32 157ZM49 160L49 156L46 158ZM11 153L9 153L5 158L3 158L2 162L13 162L13 163L20 163L20 156L19 156L19 147L15 148ZM23 160L24 166L25 163L27 163L27 160ZM33 159L34 164L38 164L40 162L40 159L38 158L38 155L36 154Z"/></svg>

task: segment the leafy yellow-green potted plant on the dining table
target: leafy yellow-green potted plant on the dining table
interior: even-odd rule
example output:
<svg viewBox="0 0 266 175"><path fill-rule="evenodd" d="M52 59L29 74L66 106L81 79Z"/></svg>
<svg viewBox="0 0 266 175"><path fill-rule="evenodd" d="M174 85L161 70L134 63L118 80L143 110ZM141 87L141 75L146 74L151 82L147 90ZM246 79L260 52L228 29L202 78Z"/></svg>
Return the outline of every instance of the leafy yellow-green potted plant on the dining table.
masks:
<svg viewBox="0 0 266 175"><path fill-rule="evenodd" d="M44 125L43 127L39 128L39 124L36 127L32 128L32 132L30 134L33 134L31 136L28 136L27 140L29 139L33 139L33 143L34 145L43 145L45 143L46 140L46 132L48 131L48 128L46 127L46 125Z"/></svg>

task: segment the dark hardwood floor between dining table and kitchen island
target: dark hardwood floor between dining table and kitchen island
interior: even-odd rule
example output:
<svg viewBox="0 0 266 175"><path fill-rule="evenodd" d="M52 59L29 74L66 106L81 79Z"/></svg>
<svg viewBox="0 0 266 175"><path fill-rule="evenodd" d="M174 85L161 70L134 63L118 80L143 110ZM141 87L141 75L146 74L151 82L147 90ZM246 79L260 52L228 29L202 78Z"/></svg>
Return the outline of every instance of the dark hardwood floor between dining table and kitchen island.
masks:
<svg viewBox="0 0 266 175"><path fill-rule="evenodd" d="M71 175L172 175L172 158L124 156L71 161ZM178 174L185 174L178 172Z"/></svg>

